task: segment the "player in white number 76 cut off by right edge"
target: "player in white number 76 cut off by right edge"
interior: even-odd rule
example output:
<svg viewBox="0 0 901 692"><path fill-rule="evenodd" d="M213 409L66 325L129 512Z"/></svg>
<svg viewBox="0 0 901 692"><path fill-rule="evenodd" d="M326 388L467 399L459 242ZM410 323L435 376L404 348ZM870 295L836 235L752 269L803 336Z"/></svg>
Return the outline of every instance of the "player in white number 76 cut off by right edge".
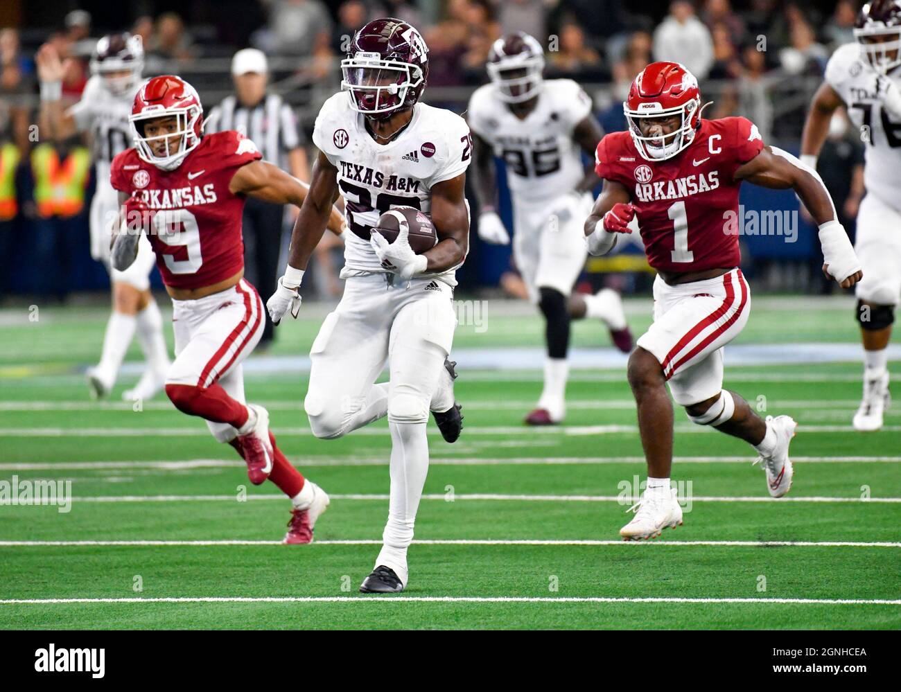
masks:
<svg viewBox="0 0 901 692"><path fill-rule="evenodd" d="M888 402L888 341L901 301L901 3L864 5L857 39L833 53L814 96L801 140L801 159L816 168L829 123L845 105L866 146L867 195L857 215L857 250L864 278L854 288L855 316L863 342L863 398L854 414L857 430L882 427Z"/></svg>

